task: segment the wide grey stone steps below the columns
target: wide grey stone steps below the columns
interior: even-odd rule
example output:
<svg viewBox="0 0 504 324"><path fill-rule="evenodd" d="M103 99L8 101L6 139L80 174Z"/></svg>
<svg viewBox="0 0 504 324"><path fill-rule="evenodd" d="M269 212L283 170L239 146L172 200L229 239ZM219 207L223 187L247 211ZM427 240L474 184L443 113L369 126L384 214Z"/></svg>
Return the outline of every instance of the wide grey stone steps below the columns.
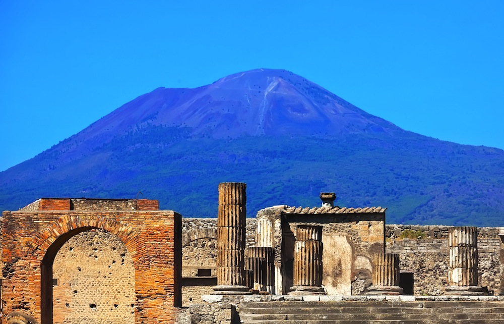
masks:
<svg viewBox="0 0 504 324"><path fill-rule="evenodd" d="M504 324L502 301L245 301L249 324Z"/></svg>

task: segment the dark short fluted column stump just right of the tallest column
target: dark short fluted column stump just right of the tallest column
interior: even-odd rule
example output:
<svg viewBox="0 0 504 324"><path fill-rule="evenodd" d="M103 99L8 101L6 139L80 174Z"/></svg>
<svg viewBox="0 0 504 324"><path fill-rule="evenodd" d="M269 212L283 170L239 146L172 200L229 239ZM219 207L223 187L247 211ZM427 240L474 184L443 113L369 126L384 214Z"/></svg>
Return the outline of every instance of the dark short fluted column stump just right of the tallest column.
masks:
<svg viewBox="0 0 504 324"><path fill-rule="evenodd" d="M249 247L245 252L247 264L254 270L254 290L272 294L275 284L275 249Z"/></svg>

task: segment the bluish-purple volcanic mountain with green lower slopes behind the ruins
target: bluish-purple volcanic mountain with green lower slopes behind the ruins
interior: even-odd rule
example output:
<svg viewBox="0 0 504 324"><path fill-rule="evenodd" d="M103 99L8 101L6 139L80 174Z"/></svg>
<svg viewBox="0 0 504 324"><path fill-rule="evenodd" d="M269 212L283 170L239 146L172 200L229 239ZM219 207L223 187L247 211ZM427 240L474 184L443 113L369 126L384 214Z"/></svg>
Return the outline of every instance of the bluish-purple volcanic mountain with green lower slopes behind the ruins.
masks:
<svg viewBox="0 0 504 324"><path fill-rule="evenodd" d="M159 199L217 214L247 183L247 214L278 205L388 207L388 223L504 226L504 151L402 130L284 70L158 88L0 173L0 209L40 197ZM142 197L142 195L140 195Z"/></svg>

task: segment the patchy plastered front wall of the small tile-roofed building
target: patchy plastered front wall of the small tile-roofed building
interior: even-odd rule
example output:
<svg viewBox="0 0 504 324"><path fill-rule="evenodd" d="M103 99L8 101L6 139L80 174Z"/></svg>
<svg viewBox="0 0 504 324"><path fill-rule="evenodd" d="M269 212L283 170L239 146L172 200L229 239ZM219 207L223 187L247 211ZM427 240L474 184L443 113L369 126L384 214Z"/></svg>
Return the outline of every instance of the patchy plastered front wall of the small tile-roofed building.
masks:
<svg viewBox="0 0 504 324"><path fill-rule="evenodd" d="M286 214L285 289L292 286L296 226L322 226L322 284L328 295L361 294L371 285L371 255L384 251L384 213ZM288 290L285 290L286 293Z"/></svg>

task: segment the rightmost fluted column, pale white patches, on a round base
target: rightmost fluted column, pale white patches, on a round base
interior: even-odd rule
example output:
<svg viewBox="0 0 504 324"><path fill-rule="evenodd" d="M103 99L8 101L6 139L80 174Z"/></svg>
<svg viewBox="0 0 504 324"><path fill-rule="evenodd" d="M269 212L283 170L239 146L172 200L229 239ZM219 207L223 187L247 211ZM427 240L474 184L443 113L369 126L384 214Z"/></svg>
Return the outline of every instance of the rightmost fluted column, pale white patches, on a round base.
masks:
<svg viewBox="0 0 504 324"><path fill-rule="evenodd" d="M486 295L478 286L478 229L451 227L448 230L450 263L447 294Z"/></svg>

